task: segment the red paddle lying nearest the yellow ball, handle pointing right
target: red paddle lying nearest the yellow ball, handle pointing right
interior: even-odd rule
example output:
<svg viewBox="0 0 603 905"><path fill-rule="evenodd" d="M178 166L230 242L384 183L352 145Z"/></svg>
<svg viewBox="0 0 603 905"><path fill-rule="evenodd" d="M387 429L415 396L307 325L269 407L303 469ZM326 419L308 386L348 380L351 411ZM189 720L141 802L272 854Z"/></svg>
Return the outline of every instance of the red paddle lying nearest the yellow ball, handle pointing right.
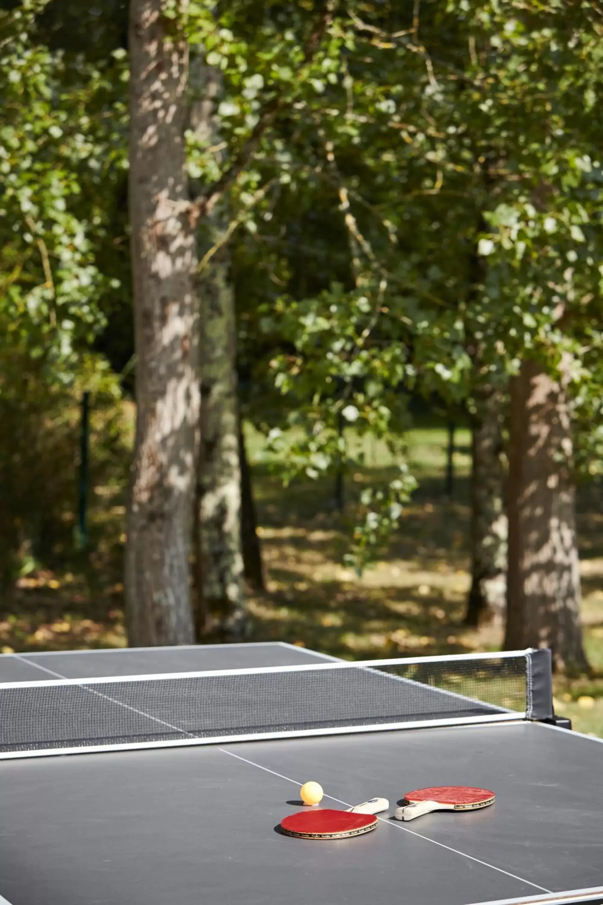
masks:
<svg viewBox="0 0 603 905"><path fill-rule="evenodd" d="M380 814L389 807L385 798L372 798L362 805L335 811L323 808L317 811L299 811L290 814L280 822L281 833L298 839L347 839L370 833L377 826L374 814Z"/></svg>

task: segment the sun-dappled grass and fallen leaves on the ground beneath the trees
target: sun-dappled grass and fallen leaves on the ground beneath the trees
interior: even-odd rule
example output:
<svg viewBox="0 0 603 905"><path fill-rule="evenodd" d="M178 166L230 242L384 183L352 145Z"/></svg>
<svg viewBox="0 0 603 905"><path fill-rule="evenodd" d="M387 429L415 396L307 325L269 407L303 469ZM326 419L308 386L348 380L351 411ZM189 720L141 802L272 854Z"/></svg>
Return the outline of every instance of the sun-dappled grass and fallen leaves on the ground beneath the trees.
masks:
<svg viewBox="0 0 603 905"><path fill-rule="evenodd" d="M445 430L408 438L419 479L390 547L363 576L342 565L352 527L334 506L334 481L294 482L283 490L261 438L248 433L267 592L251 595L255 640L284 640L345 659L498 650L500 630L463 625L469 584L469 433L457 431L452 499L444 495ZM391 470L390 453L363 440L366 466L345 477L353 496ZM593 675L555 681L557 712L575 729L603 737L603 512L598 489L579 493L585 645ZM121 564L123 491L95 489L87 562L20 579L0 613L0 649L124 646Z"/></svg>

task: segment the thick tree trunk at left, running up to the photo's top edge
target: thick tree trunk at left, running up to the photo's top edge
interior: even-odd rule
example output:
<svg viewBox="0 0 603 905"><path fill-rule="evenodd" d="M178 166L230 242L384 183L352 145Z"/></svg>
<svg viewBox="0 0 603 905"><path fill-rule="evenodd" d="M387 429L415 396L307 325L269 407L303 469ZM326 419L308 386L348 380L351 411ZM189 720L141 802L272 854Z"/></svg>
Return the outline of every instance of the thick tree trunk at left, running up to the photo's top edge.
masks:
<svg viewBox="0 0 603 905"><path fill-rule="evenodd" d="M186 0L179 0L184 8ZM189 556L199 417L196 253L184 122L188 47L162 0L130 3L137 429L126 552L129 643L194 640Z"/></svg>

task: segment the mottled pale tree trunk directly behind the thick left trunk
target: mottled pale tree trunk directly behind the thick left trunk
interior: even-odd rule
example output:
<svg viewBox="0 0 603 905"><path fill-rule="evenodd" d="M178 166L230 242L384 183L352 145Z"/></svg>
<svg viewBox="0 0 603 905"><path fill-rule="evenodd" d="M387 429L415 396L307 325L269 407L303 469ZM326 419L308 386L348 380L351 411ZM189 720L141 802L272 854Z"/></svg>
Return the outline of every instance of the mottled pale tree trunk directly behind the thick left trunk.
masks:
<svg viewBox="0 0 603 905"><path fill-rule="evenodd" d="M192 126L196 138L219 148L216 105L221 73L194 62ZM214 153L220 153L219 151ZM205 253L223 239L227 222L217 205L198 234ZM197 471L196 550L199 628L226 639L247 629L240 538L239 411L236 319L226 246L201 274L201 420Z"/></svg>

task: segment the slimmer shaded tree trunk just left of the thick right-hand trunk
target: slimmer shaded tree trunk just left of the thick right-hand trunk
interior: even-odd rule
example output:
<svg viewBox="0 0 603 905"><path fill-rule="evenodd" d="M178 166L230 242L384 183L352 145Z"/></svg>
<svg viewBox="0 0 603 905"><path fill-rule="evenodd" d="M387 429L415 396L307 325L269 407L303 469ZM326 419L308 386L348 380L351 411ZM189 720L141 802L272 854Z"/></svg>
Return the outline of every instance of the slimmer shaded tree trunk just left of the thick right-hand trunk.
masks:
<svg viewBox="0 0 603 905"><path fill-rule="evenodd" d="M504 508L502 392L476 392L471 445L471 589L465 622L504 624L507 520Z"/></svg>

